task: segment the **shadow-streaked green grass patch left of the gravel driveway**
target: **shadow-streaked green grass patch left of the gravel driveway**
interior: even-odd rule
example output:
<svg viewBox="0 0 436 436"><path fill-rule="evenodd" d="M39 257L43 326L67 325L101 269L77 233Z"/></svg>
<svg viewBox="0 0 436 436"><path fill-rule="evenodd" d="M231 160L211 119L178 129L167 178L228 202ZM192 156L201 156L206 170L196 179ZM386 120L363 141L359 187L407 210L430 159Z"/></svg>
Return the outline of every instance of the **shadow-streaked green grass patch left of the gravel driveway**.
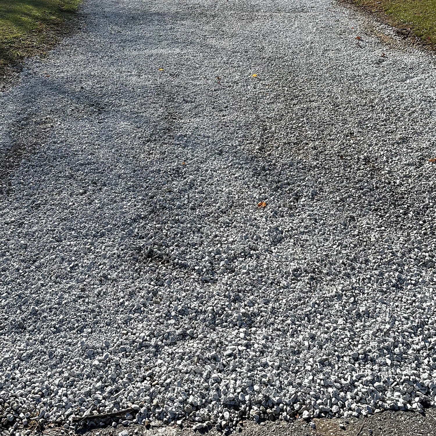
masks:
<svg viewBox="0 0 436 436"><path fill-rule="evenodd" d="M0 0L0 73L52 47L81 0Z"/></svg>

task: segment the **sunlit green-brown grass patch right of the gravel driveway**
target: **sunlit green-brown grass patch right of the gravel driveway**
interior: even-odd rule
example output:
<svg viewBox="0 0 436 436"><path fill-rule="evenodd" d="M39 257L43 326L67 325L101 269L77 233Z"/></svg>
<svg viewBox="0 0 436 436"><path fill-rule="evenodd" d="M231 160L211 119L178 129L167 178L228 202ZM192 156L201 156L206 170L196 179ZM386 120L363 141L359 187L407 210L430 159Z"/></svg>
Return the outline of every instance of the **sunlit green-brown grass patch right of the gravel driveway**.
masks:
<svg viewBox="0 0 436 436"><path fill-rule="evenodd" d="M405 36L436 48L436 0L347 0L378 15Z"/></svg>

